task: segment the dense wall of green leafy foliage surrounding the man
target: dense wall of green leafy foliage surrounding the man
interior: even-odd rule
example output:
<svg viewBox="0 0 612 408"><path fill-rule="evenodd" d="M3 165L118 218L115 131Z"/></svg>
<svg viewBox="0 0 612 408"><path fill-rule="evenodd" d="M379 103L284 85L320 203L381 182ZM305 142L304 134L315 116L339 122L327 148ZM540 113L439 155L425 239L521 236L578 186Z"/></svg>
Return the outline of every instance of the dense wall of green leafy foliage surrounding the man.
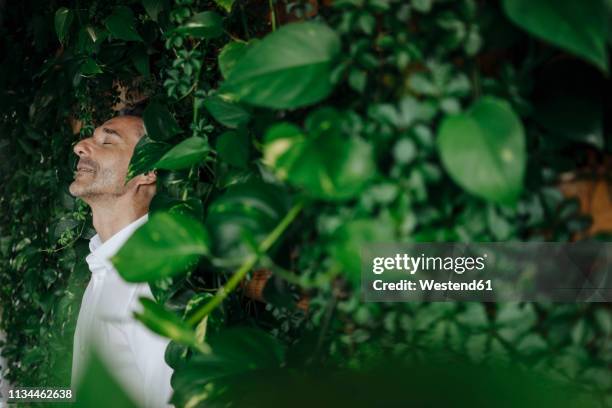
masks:
<svg viewBox="0 0 612 408"><path fill-rule="evenodd" d="M567 241L589 226L557 184L612 148L609 7L330 3L3 6L7 378L69 382L94 233L67 193L72 146L114 114L123 84L149 95L129 176L161 177L151 222L114 263L150 281L158 303L139 319L173 340L177 404L222 400L249 372L441 351L535 367L610 403L608 305L364 304L358 290L363 243ZM262 268L267 304L240 284ZM204 395L209 383L229 388Z"/></svg>

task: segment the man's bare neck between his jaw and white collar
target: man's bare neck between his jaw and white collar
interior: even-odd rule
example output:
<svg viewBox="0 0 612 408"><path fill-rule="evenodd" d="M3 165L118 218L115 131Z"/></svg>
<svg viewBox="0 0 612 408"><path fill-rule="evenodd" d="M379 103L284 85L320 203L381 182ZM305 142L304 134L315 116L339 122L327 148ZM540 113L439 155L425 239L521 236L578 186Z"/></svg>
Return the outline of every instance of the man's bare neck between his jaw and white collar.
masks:
<svg viewBox="0 0 612 408"><path fill-rule="evenodd" d="M128 196L129 194L126 194ZM90 202L93 226L100 240L105 242L117 232L149 211L149 206L138 203L133 197L113 197L111 200Z"/></svg>

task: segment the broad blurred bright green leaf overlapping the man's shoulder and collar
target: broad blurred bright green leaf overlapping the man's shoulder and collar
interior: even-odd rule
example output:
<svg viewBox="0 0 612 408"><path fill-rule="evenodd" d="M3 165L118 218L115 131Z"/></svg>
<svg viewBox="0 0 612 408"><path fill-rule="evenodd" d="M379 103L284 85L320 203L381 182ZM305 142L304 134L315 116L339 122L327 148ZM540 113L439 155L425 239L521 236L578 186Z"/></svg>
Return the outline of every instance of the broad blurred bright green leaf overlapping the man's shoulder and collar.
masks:
<svg viewBox="0 0 612 408"><path fill-rule="evenodd" d="M208 248L208 233L200 222L178 213L157 213L111 261L126 281L146 282L186 273Z"/></svg>

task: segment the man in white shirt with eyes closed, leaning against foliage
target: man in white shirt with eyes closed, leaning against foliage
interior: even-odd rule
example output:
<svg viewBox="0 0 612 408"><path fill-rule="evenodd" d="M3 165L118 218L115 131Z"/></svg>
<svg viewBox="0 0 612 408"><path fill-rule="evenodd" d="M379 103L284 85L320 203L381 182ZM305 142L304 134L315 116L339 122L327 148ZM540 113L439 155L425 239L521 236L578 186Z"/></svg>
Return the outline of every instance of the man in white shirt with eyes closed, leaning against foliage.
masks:
<svg viewBox="0 0 612 408"><path fill-rule="evenodd" d="M155 195L155 172L125 183L130 158L144 133L141 118L118 116L74 146L79 161L70 193L91 207L97 234L90 240L91 253L86 258L91 280L74 335L71 386L76 391L93 347L135 402L168 407L172 390L172 369L164 360L168 340L133 318L134 311L142 310L138 298L153 297L149 286L127 283L109 261L147 221Z"/></svg>

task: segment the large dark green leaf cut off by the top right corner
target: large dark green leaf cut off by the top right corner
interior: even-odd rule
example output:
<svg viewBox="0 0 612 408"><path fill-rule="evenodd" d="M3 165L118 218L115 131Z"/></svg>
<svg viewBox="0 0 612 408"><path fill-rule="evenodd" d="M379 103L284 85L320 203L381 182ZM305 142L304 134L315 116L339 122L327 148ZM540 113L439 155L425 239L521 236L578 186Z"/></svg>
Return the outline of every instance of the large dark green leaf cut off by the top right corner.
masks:
<svg viewBox="0 0 612 408"><path fill-rule="evenodd" d="M525 31L608 70L602 2L504 0L503 7Z"/></svg>

